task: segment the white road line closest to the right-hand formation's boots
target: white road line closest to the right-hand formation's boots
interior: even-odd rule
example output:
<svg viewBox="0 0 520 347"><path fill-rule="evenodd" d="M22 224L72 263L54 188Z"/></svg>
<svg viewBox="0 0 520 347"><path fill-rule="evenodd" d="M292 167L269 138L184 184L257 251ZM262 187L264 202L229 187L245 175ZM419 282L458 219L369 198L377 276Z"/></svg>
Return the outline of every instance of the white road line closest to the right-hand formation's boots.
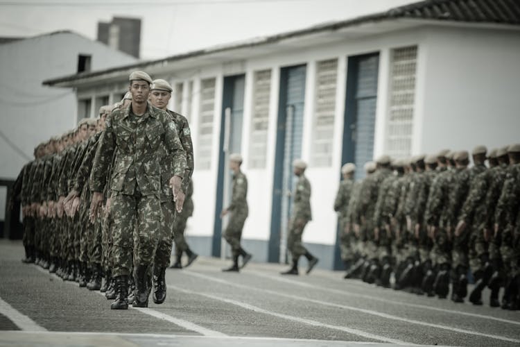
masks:
<svg viewBox="0 0 520 347"><path fill-rule="evenodd" d="M345 295L345 296L356 296L358 298L365 298L367 300L380 301L381 303L389 303L388 299L379 298L377 296L352 293L352 291L348 291L347 292L347 291L342 291L342 290L339 290L339 289L323 288L323 287L319 287L317 285L311 285L310 283L304 283L304 282L300 282L300 281L297 281L297 280L290 280L288 278L280 278L278 276L266 275L265 273L261 273L261 272L258 272L258 271L248 271L248 273L252 274L253 276L259 276L259 277L263 277L263 278L270 278L272 280L277 280L279 282L286 282L286 283L291 284L291 285L299 285L300 287L312 288L312 289L317 289L317 290L321 290L321 291L328 291L329 293L340 294L340 295ZM366 283L364 283L364 284L366 285ZM449 310L449 309L446 309L446 308L433 307L433 306L428 306L428 305L421 305L421 304L415 304L415 303L406 303L404 301L393 301L392 300L392 301L390 301L390 303L396 304L396 305L404 305L404 306L408 306L408 307L421 308L421 309L424 309L424 310L445 312L445 313L449 313L449 314L462 314L463 316L471 316L471 317L476 317L476 318L480 318L480 319L489 319L489 320L492 320L492 321L499 321L499 322L502 322L502 323L520 325L520 321L511 321L510 319L503 319L503 318L499 318L499 317L495 317L495 316L487 316L485 314L478 314L478 313L471 313L471 312L462 312L462 311L458 311L458 310Z"/></svg>

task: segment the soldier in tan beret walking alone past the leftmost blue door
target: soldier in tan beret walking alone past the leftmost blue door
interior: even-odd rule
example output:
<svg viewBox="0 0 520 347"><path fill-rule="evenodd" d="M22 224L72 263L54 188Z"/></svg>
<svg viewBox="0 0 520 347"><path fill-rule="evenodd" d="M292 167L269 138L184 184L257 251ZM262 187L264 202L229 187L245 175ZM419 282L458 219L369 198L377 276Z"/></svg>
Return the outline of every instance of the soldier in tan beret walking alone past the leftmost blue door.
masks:
<svg viewBox="0 0 520 347"><path fill-rule="evenodd" d="M222 271L239 272L245 264L251 260L252 255L242 248L240 239L242 237L242 228L245 219L248 218L248 179L245 177L240 167L242 164L242 156L239 153L232 153L229 155L229 168L233 171L233 187L231 203L220 212L220 218L230 213L229 221L224 232L224 239L231 246L233 256L233 264ZM242 266L239 268L239 255L242 255Z"/></svg>

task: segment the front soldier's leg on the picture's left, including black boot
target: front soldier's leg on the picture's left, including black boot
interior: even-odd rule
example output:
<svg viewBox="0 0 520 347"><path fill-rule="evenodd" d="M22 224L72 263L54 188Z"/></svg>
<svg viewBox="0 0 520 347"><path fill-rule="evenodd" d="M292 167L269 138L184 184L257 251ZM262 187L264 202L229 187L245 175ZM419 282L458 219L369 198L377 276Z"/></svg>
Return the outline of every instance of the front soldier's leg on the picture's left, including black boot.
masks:
<svg viewBox="0 0 520 347"><path fill-rule="evenodd" d="M159 209L159 206L157 206ZM132 268L133 232L137 201L135 196L114 194L112 196L112 276L115 280L116 300L110 308L128 309L128 276ZM158 228L158 226L157 226Z"/></svg>

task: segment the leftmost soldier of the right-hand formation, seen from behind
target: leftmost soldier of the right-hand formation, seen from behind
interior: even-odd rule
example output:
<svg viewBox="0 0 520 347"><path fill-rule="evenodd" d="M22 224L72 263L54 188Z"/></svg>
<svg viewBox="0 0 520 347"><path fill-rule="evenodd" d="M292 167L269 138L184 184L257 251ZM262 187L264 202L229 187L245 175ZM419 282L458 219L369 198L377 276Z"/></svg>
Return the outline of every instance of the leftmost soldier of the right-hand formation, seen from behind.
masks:
<svg viewBox="0 0 520 347"><path fill-rule="evenodd" d="M345 271L349 271L356 253L354 239L351 242L351 230L347 220L349 201L354 187L354 171L356 171L356 165L352 162L347 162L347 164L341 167L343 180L340 183L338 194L336 194L336 200L334 201L334 211L338 212L341 260L343 260Z"/></svg>

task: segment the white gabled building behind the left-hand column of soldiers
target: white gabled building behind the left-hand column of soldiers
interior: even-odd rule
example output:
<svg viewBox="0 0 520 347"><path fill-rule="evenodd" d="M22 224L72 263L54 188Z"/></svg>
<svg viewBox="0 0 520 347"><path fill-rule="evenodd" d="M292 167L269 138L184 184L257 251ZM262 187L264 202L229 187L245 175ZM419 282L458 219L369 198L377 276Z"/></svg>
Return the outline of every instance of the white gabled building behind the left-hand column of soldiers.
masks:
<svg viewBox="0 0 520 347"><path fill-rule="evenodd" d="M91 117L108 99L76 108L76 93L42 81L64 74L136 62L132 56L77 33L58 31L0 44L0 167L2 184L17 178L35 146ZM5 220L7 187L0 187L0 221Z"/></svg>

